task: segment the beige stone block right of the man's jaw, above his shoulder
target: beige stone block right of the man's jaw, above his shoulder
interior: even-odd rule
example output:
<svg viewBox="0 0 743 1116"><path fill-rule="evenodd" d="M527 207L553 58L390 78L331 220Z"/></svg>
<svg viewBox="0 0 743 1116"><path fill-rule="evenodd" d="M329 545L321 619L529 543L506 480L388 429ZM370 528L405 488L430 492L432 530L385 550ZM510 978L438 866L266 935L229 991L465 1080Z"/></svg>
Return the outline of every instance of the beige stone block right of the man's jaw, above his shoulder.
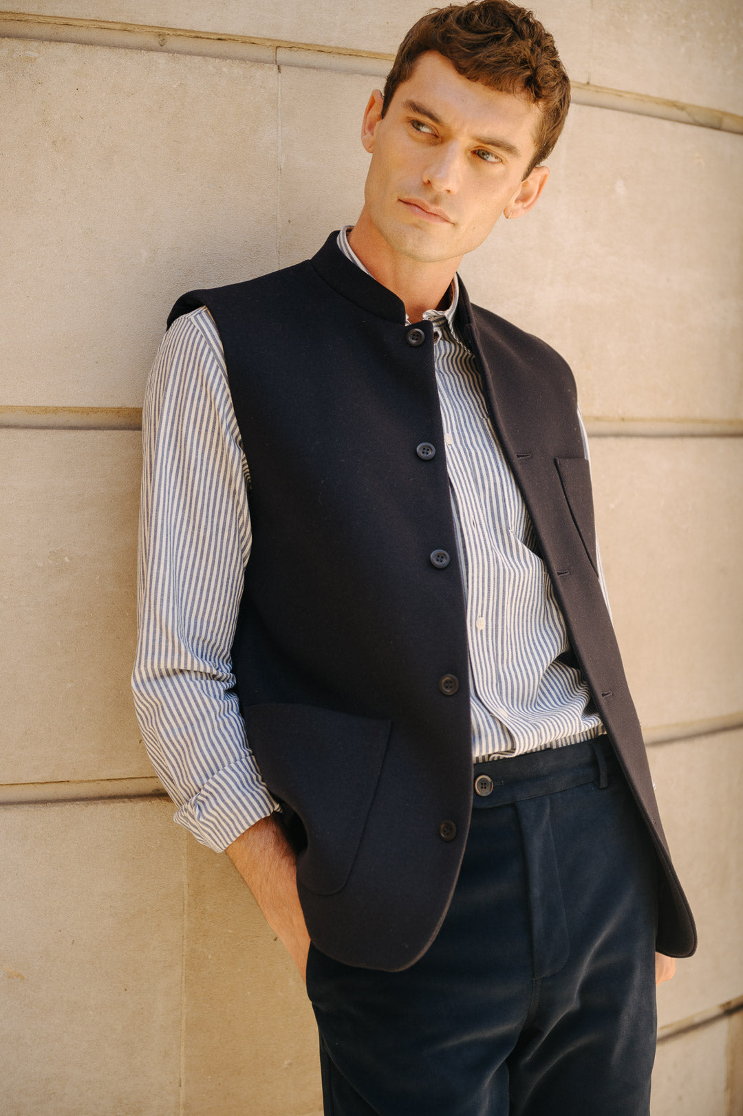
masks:
<svg viewBox="0 0 743 1116"><path fill-rule="evenodd" d="M743 416L743 145L573 106L536 208L466 257L475 301L571 364L583 413Z"/></svg>

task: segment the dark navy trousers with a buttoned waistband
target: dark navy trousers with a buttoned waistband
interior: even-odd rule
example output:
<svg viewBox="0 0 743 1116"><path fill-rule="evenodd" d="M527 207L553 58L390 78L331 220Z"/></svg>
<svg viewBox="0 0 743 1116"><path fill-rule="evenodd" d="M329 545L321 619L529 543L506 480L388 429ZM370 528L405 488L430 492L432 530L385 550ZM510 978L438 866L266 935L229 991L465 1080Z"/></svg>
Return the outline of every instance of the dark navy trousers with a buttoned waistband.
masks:
<svg viewBox="0 0 743 1116"><path fill-rule="evenodd" d="M607 739L474 771L493 789L420 961L311 947L325 1116L648 1116L656 857Z"/></svg>

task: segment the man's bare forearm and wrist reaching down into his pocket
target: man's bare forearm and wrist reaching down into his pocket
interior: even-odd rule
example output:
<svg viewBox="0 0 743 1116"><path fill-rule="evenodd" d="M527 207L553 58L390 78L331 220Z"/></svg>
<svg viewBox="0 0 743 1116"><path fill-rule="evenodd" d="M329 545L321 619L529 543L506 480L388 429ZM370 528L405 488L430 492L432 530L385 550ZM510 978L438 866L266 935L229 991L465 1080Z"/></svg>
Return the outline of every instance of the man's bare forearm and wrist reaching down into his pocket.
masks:
<svg viewBox="0 0 743 1116"><path fill-rule="evenodd" d="M275 817L256 821L227 847L226 853L304 980L309 934L297 894L296 857Z"/></svg>

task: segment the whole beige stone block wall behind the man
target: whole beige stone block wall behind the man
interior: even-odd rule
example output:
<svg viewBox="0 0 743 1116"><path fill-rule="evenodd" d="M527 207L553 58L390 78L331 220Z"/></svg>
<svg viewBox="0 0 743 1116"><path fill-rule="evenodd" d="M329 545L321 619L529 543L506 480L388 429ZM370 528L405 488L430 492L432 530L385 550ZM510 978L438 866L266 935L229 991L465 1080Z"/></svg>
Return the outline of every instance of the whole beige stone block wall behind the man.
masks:
<svg viewBox="0 0 743 1116"><path fill-rule="evenodd" d="M0 12L0 1049L8 1116L317 1116L301 982L171 822L128 694L140 407L174 298L356 217L404 0ZM743 27L732 0L542 0L575 83L474 298L571 362L630 683L701 947L654 1116L743 1110Z"/></svg>

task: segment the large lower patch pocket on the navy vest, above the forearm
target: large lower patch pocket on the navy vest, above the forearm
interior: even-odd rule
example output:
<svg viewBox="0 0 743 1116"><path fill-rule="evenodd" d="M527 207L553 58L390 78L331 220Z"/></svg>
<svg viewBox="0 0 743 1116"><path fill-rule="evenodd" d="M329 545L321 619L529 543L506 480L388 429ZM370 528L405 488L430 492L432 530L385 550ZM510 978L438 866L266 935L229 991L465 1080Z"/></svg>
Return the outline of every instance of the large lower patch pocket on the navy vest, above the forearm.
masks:
<svg viewBox="0 0 743 1116"><path fill-rule="evenodd" d="M390 739L391 721L314 705L250 705L248 744L270 792L304 827L297 878L340 892L353 866Z"/></svg>

